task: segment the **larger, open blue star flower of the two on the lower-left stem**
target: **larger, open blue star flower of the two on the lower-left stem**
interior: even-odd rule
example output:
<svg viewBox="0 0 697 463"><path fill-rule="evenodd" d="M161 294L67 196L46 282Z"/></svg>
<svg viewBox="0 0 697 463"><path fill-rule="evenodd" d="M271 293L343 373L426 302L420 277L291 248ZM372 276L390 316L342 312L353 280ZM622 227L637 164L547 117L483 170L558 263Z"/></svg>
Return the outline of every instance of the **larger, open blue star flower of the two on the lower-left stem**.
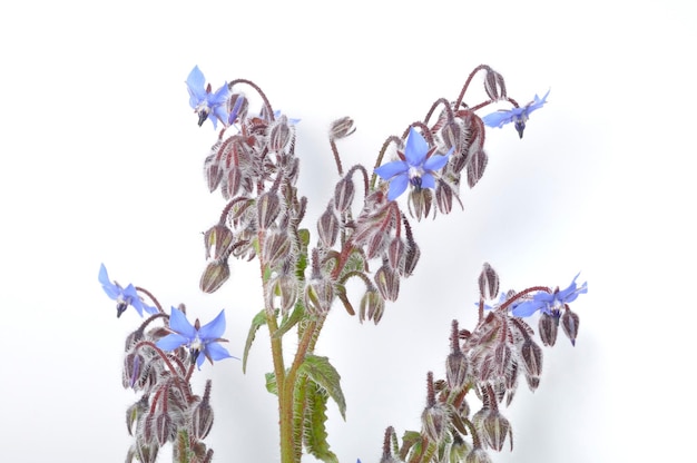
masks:
<svg viewBox="0 0 697 463"><path fill-rule="evenodd" d="M213 322L200 326L198 319L194 325L186 319L186 315L175 307L171 307L169 316L169 331L171 334L163 337L157 342L157 347L163 351L174 351L177 347L186 346L192 354L192 362L196 362L198 368L204 363L204 358L213 364L213 361L222 361L223 358L237 358L227 352L219 342L226 342L220 336L225 332L225 311L220 311ZM204 355L200 355L200 354Z"/></svg>

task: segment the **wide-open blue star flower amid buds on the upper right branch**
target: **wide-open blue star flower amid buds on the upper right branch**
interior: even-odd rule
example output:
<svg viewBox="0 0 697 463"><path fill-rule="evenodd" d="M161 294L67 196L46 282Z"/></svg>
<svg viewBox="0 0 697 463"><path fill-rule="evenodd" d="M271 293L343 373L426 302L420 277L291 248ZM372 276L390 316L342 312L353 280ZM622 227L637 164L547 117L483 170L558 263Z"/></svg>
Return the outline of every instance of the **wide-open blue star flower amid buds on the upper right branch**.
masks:
<svg viewBox="0 0 697 463"><path fill-rule="evenodd" d="M429 148L425 138L413 127L409 130L404 152L397 151L400 159L403 160L393 160L375 169L375 174L390 183L389 200L396 199L406 190L409 184L418 189L435 188L433 175L448 162L453 148L450 148L445 156L433 156L435 149Z"/></svg>

